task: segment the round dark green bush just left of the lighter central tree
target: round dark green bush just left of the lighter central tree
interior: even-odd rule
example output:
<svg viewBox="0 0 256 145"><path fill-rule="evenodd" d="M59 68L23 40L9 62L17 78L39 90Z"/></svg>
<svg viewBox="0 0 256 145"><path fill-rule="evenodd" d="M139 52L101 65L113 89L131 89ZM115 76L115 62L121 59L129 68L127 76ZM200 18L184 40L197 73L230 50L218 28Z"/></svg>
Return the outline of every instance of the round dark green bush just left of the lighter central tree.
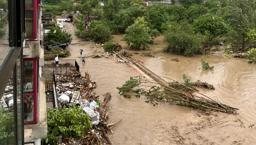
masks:
<svg viewBox="0 0 256 145"><path fill-rule="evenodd" d="M92 38L97 43L104 44L104 42L108 42L113 39L111 31L106 25L97 24L95 27L89 27L89 30Z"/></svg>

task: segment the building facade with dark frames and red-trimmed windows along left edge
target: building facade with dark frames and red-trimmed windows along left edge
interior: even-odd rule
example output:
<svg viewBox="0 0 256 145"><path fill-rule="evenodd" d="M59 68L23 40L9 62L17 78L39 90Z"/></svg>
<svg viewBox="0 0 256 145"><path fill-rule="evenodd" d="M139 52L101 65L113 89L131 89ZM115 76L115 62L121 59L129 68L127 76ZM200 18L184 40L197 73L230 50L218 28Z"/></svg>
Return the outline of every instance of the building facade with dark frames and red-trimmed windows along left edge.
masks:
<svg viewBox="0 0 256 145"><path fill-rule="evenodd" d="M41 144L47 118L40 1L0 3L0 144Z"/></svg>

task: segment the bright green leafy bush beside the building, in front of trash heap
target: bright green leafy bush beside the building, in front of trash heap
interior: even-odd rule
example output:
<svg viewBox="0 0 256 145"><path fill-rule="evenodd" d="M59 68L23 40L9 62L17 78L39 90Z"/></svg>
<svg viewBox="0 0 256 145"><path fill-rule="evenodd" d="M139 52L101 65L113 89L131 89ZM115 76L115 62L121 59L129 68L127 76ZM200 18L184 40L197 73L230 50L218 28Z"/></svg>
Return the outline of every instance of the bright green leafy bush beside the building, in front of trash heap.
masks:
<svg viewBox="0 0 256 145"><path fill-rule="evenodd" d="M47 133L48 137L42 139L42 144L58 144L58 136L84 137L88 135L92 127L89 115L82 114L83 109L72 104L69 109L55 108L51 111L47 109Z"/></svg>

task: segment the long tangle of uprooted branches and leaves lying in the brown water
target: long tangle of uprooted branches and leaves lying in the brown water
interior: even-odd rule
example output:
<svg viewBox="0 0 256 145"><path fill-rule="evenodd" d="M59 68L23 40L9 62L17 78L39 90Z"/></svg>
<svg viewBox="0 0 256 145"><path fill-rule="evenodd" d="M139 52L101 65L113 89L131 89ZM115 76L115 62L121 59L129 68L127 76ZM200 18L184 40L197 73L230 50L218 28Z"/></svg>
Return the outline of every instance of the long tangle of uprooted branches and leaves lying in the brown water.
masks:
<svg viewBox="0 0 256 145"><path fill-rule="evenodd" d="M126 92L132 91L134 93L142 94L147 97L147 102L157 105L155 101L167 101L169 103L176 103L180 106L197 108L204 111L216 110L226 113L236 114L239 110L230 107L220 101L213 100L210 97L193 90L190 86L184 85L175 81L176 85L172 83L163 84L161 82L149 79L142 79L142 77L130 77L130 80L117 88L119 94L126 95ZM183 85L183 86L182 86ZM180 86L182 86L180 89ZM184 90L186 88L186 91Z"/></svg>

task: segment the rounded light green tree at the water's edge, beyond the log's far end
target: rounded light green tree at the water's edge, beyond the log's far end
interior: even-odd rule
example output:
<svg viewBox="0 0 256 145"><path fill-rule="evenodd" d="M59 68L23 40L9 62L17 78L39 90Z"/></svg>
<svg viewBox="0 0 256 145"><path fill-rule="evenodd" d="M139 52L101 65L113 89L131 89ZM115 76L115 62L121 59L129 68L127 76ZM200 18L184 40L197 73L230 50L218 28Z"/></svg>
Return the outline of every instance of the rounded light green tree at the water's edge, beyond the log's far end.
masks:
<svg viewBox="0 0 256 145"><path fill-rule="evenodd" d="M123 36L123 41L131 47L131 49L140 50L142 46L143 49L149 48L147 44L149 40L149 33L145 29L144 25L139 23L135 23L129 26L125 30L125 35Z"/></svg>

